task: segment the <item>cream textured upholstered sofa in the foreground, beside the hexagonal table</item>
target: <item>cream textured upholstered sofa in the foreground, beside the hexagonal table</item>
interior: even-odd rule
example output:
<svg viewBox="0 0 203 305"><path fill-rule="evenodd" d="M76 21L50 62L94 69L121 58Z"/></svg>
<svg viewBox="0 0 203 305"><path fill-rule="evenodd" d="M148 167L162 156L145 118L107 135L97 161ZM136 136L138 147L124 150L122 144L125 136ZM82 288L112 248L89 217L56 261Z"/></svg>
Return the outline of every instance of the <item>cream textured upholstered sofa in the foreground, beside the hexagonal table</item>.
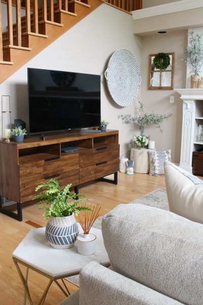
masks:
<svg viewBox="0 0 203 305"><path fill-rule="evenodd" d="M202 305L203 226L170 211L121 204L103 219L111 270L91 262L61 305Z"/></svg>

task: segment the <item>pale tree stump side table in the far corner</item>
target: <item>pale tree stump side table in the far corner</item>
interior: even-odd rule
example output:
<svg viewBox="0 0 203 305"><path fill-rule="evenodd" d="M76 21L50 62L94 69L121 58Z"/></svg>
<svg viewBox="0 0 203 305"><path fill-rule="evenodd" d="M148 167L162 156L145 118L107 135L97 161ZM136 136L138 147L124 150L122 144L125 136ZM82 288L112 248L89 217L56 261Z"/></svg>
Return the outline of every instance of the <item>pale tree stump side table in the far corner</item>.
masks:
<svg viewBox="0 0 203 305"><path fill-rule="evenodd" d="M155 149L147 148L131 148L130 160L134 161L134 173L148 174L149 173L149 153Z"/></svg>

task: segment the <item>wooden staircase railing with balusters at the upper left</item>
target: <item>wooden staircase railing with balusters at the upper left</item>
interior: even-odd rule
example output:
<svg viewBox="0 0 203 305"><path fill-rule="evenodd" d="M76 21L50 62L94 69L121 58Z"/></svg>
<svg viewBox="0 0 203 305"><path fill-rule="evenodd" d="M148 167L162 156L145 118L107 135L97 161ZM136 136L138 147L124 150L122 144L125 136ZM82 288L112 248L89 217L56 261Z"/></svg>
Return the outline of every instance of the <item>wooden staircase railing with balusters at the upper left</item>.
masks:
<svg viewBox="0 0 203 305"><path fill-rule="evenodd" d="M7 24L2 24L2 0L0 0L0 62L4 61L4 47L17 46L22 47L22 34L39 34L39 21L54 22L54 13L68 10L70 0L42 0L42 6L39 7L38 0L6 0L3 1L7 6ZM77 0L88 4L88 0ZM15 4L14 4L15 3ZM12 10L12 6L15 7ZM24 14L22 14L24 11ZM73 5L72 5L73 13ZM16 16L16 22L13 22L13 14ZM24 15L24 16L23 16ZM8 32L3 33L3 27L7 27Z"/></svg>

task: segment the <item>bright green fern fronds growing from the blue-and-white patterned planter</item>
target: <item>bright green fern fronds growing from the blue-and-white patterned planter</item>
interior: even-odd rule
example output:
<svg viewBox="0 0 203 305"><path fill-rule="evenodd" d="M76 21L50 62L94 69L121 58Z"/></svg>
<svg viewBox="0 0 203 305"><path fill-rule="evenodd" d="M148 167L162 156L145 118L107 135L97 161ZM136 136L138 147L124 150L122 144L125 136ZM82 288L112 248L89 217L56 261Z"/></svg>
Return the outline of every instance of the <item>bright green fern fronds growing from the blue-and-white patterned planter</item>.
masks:
<svg viewBox="0 0 203 305"><path fill-rule="evenodd" d="M48 182L43 182L36 188L36 192L40 189L43 191L34 196L32 199L41 199L37 204L41 205L39 209L45 209L44 218L49 219L53 217L71 216L75 212L76 216L79 215L81 210L91 211L87 206L81 206L80 202L87 200L85 195L71 193L70 188L72 184L66 185L64 189L60 189L59 182L55 179L50 179ZM67 202L67 200L77 199L82 196L82 199Z"/></svg>

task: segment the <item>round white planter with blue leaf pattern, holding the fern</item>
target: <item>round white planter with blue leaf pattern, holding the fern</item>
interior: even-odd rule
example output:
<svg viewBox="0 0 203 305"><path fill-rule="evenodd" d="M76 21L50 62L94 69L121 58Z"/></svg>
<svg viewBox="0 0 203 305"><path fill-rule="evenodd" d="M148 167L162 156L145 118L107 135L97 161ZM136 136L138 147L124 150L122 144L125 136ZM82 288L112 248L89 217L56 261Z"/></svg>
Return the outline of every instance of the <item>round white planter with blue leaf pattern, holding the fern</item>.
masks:
<svg viewBox="0 0 203 305"><path fill-rule="evenodd" d="M46 226L46 237L50 246L55 249L66 249L74 246L79 227L74 213L66 217L51 217Z"/></svg>

